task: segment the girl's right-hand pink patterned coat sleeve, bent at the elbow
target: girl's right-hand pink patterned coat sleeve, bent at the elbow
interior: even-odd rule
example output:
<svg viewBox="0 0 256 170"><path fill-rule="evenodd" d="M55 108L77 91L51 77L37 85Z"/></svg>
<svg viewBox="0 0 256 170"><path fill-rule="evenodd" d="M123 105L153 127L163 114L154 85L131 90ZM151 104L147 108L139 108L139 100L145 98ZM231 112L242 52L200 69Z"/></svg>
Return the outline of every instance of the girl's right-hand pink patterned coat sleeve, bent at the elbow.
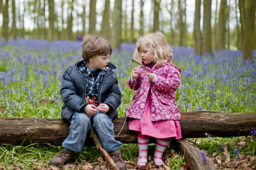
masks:
<svg viewBox="0 0 256 170"><path fill-rule="evenodd" d="M167 71L166 78L156 75L156 80L153 83L153 88L163 92L175 92L180 85L180 72L177 68L171 67Z"/></svg>

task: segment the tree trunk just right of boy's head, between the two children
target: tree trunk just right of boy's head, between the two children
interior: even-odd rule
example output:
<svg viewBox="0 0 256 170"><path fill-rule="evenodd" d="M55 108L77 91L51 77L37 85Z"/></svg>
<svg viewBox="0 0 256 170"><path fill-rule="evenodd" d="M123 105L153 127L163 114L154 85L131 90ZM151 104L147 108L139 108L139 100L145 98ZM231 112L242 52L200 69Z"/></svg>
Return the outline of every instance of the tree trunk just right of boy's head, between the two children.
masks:
<svg viewBox="0 0 256 170"><path fill-rule="evenodd" d="M122 34L122 0L115 0L113 12L112 45L120 50Z"/></svg>

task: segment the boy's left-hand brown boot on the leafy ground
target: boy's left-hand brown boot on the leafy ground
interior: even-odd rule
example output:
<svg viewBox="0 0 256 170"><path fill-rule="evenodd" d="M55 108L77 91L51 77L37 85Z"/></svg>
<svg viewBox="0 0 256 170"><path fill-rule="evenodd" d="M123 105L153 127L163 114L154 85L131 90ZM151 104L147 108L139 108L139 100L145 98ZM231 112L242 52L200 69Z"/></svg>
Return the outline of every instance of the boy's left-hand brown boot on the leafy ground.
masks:
<svg viewBox="0 0 256 170"><path fill-rule="evenodd" d="M49 166L65 165L74 158L75 152L64 148L63 151L49 161Z"/></svg>

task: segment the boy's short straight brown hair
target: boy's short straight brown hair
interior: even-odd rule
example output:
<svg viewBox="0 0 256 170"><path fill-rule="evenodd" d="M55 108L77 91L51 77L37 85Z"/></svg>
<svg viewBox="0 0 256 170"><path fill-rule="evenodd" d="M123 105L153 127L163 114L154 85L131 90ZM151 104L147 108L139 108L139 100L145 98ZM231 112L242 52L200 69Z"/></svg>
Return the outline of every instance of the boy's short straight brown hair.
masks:
<svg viewBox="0 0 256 170"><path fill-rule="evenodd" d="M110 43L98 35L86 34L83 37L82 57L88 62L95 55L111 55L112 47Z"/></svg>

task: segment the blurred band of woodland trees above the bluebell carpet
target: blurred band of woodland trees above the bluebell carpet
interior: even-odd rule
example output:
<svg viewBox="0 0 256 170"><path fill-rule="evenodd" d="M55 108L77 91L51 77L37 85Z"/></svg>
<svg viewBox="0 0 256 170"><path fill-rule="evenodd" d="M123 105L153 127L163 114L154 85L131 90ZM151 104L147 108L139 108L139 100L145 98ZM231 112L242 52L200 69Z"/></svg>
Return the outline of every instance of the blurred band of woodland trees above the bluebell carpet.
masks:
<svg viewBox="0 0 256 170"><path fill-rule="evenodd" d="M0 35L3 41L54 41L81 40L84 34L100 34L113 47L120 48L121 43L135 43L140 35L162 31L171 46L194 46L199 55L212 55L212 50L242 50L243 59L253 62L255 0L193 3L189 6L191 1L186 0L0 0ZM188 8L194 9L188 13Z"/></svg>

